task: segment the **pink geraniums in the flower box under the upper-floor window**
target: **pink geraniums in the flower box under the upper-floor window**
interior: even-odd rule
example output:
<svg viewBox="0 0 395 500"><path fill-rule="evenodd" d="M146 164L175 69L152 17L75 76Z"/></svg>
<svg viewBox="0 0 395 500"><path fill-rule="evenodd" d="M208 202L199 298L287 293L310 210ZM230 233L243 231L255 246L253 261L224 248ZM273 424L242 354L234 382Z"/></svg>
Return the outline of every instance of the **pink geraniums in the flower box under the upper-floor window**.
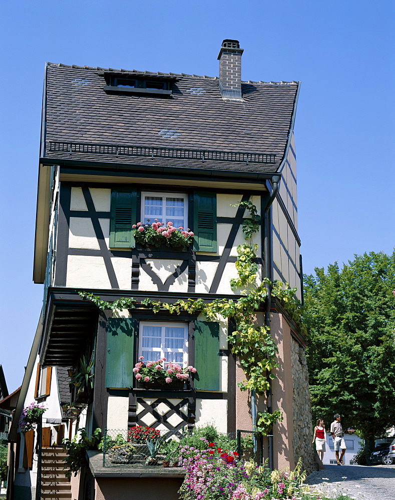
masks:
<svg viewBox="0 0 395 500"><path fill-rule="evenodd" d="M132 232L137 244L150 248L175 248L182 249L188 247L194 233L183 226L178 228L169 221L166 224L155 219L152 224L137 222L132 225Z"/></svg>

